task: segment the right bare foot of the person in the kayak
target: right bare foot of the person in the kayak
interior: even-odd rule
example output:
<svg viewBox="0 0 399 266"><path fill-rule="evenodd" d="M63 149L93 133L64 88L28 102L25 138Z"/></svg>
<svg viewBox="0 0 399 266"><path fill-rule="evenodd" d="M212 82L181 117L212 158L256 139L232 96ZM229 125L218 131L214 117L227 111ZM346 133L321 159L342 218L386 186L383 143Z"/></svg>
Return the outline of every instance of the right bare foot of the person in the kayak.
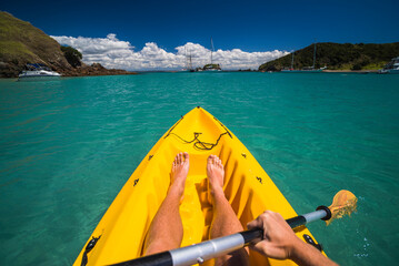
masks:
<svg viewBox="0 0 399 266"><path fill-rule="evenodd" d="M217 155L208 157L207 175L211 196L215 196L217 193L223 193L225 168Z"/></svg>

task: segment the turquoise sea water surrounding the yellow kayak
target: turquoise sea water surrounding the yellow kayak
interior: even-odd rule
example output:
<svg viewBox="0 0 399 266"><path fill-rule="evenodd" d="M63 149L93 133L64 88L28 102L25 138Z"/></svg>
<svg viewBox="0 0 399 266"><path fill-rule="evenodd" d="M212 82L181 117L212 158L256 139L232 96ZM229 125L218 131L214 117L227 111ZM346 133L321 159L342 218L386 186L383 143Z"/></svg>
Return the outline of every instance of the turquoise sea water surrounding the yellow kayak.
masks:
<svg viewBox="0 0 399 266"><path fill-rule="evenodd" d="M399 75L151 73L0 80L0 264L70 265L158 139L201 105L252 152L342 265L399 259Z"/></svg>

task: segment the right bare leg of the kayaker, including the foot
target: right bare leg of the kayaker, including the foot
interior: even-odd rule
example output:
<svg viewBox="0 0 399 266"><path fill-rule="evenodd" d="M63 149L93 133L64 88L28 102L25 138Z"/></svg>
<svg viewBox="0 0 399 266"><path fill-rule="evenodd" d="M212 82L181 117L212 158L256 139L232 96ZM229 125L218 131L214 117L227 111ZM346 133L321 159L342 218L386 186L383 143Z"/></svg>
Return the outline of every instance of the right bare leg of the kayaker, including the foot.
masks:
<svg viewBox="0 0 399 266"><path fill-rule="evenodd" d="M211 203L213 205L213 219L210 237L221 237L243 231L235 211L227 201L223 192L225 170L221 160L216 155L208 157L207 174ZM241 248L216 259L216 265L249 265L248 249Z"/></svg>

